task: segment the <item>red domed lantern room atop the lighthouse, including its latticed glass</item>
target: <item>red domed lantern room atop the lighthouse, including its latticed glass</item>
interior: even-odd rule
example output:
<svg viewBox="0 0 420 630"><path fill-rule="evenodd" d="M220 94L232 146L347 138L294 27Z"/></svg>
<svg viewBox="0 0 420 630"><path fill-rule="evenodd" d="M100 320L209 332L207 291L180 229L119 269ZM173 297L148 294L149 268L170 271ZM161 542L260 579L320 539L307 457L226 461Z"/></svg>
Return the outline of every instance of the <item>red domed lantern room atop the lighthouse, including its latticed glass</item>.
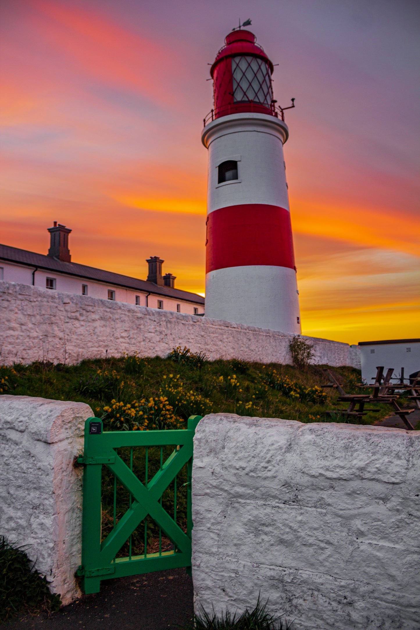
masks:
<svg viewBox="0 0 420 630"><path fill-rule="evenodd" d="M242 29L229 33L210 74L214 89L212 118L241 112L278 115L271 86L273 64L253 33Z"/></svg>

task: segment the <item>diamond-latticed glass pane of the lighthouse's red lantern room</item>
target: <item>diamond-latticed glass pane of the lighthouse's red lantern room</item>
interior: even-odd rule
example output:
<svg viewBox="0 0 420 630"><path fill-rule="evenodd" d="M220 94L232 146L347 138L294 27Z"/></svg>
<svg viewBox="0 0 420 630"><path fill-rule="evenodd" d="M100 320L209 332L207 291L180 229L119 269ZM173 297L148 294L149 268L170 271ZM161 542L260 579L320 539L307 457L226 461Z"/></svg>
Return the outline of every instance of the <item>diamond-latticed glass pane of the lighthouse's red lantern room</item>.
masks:
<svg viewBox="0 0 420 630"><path fill-rule="evenodd" d="M273 100L268 65L257 57L232 57L234 102L253 101L270 107Z"/></svg>

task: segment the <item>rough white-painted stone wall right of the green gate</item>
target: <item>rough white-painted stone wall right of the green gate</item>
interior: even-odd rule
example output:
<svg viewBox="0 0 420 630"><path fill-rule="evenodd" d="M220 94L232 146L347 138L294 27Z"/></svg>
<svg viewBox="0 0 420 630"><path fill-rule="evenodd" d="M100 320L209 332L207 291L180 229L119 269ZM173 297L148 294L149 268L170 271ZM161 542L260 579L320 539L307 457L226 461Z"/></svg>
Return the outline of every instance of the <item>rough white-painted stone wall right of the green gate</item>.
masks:
<svg viewBox="0 0 420 630"><path fill-rule="evenodd" d="M192 491L197 612L420 627L420 432L208 415Z"/></svg>

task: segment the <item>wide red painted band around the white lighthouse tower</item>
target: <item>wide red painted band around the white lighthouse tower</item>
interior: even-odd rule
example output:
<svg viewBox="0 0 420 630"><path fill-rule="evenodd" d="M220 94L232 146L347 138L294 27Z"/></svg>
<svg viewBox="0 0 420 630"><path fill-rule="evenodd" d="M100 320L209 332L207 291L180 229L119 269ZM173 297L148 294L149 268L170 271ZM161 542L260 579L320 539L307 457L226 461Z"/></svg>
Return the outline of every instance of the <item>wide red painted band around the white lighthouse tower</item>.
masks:
<svg viewBox="0 0 420 630"><path fill-rule="evenodd" d="M295 269L290 212L263 203L231 205L207 218L206 273L244 265Z"/></svg>

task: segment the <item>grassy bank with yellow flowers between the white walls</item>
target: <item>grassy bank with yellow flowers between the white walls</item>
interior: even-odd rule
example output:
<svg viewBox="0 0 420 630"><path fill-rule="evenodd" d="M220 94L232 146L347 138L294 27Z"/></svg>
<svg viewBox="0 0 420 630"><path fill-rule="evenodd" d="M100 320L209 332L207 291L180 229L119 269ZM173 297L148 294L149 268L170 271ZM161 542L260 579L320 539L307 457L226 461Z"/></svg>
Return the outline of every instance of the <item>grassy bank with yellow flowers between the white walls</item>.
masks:
<svg viewBox="0 0 420 630"><path fill-rule="evenodd" d="M358 392L360 370L332 372L346 392ZM222 411L305 423L345 421L339 413L327 413L345 405L337 402L335 389L321 389L326 382L322 366L210 362L182 351L169 358L133 355L0 368L2 393L88 403L108 430L176 428L190 415ZM363 423L389 413L383 406L364 416Z"/></svg>

